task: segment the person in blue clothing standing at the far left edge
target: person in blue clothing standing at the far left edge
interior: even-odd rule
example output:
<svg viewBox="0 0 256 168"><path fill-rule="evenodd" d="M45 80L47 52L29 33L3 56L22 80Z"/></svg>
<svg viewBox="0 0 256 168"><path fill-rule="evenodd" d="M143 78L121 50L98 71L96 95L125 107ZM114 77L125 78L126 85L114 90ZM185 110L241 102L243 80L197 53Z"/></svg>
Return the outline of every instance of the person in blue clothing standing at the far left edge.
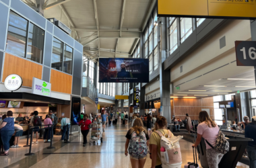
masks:
<svg viewBox="0 0 256 168"><path fill-rule="evenodd" d="M12 134L14 133L14 120L12 118L13 112L8 111L7 117L3 120L0 126L1 140L3 143L4 153L1 153L1 156L9 155L9 141Z"/></svg>

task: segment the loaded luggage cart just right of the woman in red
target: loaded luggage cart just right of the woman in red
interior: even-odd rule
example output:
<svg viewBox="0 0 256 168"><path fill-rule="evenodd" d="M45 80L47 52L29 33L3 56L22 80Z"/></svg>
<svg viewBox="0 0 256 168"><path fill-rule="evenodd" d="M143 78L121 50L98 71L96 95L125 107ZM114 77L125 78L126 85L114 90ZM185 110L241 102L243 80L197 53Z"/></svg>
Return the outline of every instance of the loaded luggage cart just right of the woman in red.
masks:
<svg viewBox="0 0 256 168"><path fill-rule="evenodd" d="M98 140L102 142L102 124L101 122L93 122L90 129L90 145L93 142L97 142L98 145Z"/></svg>

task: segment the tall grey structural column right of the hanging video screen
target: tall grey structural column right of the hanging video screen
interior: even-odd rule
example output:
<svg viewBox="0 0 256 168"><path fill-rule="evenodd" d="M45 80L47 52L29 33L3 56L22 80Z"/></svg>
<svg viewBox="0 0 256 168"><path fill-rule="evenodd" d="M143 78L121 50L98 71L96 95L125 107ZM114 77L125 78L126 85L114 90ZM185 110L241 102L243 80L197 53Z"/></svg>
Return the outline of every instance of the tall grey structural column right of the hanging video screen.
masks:
<svg viewBox="0 0 256 168"><path fill-rule="evenodd" d="M160 64L160 99L162 107L162 116L164 116L168 123L171 121L170 112L170 70L164 71L164 60L167 58L167 25L166 17L160 17L160 54L159 54L159 64Z"/></svg>

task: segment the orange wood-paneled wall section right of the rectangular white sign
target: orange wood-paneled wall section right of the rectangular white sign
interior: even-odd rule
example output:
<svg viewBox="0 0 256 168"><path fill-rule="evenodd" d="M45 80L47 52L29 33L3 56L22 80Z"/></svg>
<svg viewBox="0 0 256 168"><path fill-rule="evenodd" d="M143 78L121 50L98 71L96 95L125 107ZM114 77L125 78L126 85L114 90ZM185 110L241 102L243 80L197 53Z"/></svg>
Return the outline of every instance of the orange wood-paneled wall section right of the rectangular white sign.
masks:
<svg viewBox="0 0 256 168"><path fill-rule="evenodd" d="M59 71L51 70L52 91L71 94L72 76Z"/></svg>

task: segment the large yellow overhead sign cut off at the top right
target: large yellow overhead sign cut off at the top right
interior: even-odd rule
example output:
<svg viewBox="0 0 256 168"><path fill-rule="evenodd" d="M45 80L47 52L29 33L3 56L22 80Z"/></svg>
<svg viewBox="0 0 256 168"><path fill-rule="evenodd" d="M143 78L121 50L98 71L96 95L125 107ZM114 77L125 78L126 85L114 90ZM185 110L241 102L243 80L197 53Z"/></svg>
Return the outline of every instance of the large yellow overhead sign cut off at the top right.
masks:
<svg viewBox="0 0 256 168"><path fill-rule="evenodd" d="M256 17L256 0L158 0L158 16Z"/></svg>

